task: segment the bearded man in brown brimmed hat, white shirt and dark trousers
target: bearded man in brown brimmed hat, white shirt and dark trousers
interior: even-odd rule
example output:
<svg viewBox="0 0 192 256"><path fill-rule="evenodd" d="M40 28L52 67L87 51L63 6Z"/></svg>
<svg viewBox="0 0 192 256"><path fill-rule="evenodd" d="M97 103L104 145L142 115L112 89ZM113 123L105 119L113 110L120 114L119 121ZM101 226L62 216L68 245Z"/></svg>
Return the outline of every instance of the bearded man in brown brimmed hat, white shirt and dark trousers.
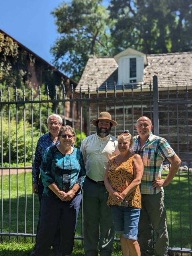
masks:
<svg viewBox="0 0 192 256"><path fill-rule="evenodd" d="M110 256L113 250L114 227L104 176L111 156L119 154L118 141L110 135L117 122L110 113L101 112L92 120L96 133L86 137L80 150L86 164L83 185L84 251L86 256Z"/></svg>

